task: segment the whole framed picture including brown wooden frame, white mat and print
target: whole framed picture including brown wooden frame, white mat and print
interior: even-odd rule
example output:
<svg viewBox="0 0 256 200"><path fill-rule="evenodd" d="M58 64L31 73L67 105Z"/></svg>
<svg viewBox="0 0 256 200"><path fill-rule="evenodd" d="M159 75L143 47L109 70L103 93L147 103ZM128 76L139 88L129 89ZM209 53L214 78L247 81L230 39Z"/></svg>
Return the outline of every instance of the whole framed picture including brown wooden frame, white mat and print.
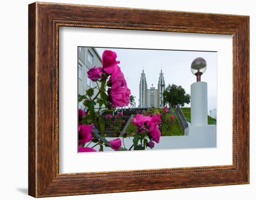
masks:
<svg viewBox="0 0 256 200"><path fill-rule="evenodd" d="M28 8L29 195L249 183L249 16Z"/></svg>

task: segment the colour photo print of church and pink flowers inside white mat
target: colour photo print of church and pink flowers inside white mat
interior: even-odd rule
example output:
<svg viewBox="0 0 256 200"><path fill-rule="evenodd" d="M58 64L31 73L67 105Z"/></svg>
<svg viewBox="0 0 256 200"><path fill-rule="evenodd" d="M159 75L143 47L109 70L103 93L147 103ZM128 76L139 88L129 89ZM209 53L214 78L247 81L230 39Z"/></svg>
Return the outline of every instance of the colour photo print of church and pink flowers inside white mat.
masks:
<svg viewBox="0 0 256 200"><path fill-rule="evenodd" d="M78 153L216 148L217 52L77 48Z"/></svg>

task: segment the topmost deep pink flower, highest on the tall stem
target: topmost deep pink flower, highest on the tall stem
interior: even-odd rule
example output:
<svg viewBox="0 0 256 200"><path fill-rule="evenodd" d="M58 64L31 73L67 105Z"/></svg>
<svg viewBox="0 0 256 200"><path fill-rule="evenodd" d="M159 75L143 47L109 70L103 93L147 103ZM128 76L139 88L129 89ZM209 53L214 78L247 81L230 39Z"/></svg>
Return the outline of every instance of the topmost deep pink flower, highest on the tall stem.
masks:
<svg viewBox="0 0 256 200"><path fill-rule="evenodd" d="M113 74L116 67L118 67L116 64L120 63L120 61L116 61L116 57L116 53L110 50L105 50L102 53L102 67L108 74Z"/></svg>

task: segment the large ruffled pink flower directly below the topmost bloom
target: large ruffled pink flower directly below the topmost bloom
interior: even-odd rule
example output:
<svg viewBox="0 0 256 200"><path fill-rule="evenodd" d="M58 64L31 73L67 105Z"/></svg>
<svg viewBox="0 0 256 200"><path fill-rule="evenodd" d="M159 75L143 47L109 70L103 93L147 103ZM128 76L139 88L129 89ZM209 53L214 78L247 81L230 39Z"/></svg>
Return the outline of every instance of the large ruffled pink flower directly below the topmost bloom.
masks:
<svg viewBox="0 0 256 200"><path fill-rule="evenodd" d="M111 76L111 88L109 91L112 107L122 107L129 104L131 91L128 89L126 80L119 69L115 76Z"/></svg>

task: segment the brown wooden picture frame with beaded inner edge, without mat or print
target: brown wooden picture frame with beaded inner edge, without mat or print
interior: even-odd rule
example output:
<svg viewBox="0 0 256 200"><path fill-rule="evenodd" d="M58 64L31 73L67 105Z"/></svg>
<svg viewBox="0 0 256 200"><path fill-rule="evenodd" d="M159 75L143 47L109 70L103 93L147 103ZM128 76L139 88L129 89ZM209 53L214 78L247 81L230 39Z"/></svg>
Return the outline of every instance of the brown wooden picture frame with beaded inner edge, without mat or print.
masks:
<svg viewBox="0 0 256 200"><path fill-rule="evenodd" d="M28 8L29 195L49 197L249 183L249 16L39 2ZM232 165L59 174L61 26L232 35Z"/></svg>

